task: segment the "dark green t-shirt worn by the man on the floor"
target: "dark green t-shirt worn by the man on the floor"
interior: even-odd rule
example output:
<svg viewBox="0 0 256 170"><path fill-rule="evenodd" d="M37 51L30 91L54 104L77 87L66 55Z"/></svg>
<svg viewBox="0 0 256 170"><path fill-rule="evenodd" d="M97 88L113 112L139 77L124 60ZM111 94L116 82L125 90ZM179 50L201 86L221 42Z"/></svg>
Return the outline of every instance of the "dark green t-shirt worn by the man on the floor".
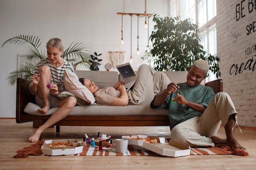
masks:
<svg viewBox="0 0 256 170"><path fill-rule="evenodd" d="M209 103L211 102L211 99L215 95L211 87L203 86L202 84L191 87L191 86L188 86L185 82L177 85L180 86L180 90L179 90L180 95L183 95L186 100L195 102L195 103L200 103L206 107L209 105ZM157 95L155 95L155 97ZM173 104L171 99L174 98L176 95L177 95L177 92L173 92L169 94L168 97L165 99L164 103L159 107L153 106L154 100L150 104L151 108L168 109L170 129L172 129L174 126L176 126L182 121L186 121L193 117L202 115L202 113L195 111L184 104L178 104L178 103Z"/></svg>

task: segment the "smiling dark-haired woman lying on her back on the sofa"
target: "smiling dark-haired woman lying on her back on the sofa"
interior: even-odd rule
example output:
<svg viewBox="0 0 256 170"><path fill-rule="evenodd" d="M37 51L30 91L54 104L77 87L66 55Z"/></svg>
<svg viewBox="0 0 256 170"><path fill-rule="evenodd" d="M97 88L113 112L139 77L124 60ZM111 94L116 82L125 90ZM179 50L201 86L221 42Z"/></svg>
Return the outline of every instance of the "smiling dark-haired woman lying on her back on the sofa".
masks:
<svg viewBox="0 0 256 170"><path fill-rule="evenodd" d="M109 106L150 105L154 96L164 91L171 83L165 73L157 72L146 64L139 66L134 87L128 91L124 82L99 89L89 79L80 78L79 81L92 92L97 104Z"/></svg>

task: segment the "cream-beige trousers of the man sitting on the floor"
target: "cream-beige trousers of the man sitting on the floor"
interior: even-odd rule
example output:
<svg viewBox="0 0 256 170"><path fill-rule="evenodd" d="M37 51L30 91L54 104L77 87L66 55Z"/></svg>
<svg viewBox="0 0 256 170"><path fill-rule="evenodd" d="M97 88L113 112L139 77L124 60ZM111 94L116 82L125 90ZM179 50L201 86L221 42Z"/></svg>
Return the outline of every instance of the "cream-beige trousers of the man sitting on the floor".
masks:
<svg viewBox="0 0 256 170"><path fill-rule="evenodd" d="M227 124L232 114L237 112L230 96L225 92L217 93L200 117L176 125L171 130L171 138L192 148L213 147L211 137L216 135L221 123Z"/></svg>

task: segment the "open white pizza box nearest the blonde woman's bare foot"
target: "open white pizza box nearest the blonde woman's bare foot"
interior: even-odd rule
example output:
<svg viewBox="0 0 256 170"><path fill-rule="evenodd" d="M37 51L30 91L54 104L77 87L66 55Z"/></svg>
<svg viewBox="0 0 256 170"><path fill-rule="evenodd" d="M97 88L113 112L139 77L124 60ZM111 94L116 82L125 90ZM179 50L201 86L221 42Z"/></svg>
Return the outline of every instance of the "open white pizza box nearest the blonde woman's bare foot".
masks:
<svg viewBox="0 0 256 170"><path fill-rule="evenodd" d="M73 146L66 146L66 148L50 148L51 142L72 142ZM41 150L44 155L74 155L83 152L83 146L76 139L46 140Z"/></svg>

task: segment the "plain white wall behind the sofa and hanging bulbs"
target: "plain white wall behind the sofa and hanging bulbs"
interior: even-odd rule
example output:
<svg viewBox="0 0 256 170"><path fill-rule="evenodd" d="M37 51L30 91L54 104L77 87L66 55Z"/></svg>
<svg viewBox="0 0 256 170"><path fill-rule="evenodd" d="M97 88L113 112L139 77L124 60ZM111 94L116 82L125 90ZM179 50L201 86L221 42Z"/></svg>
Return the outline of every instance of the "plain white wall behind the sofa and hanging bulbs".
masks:
<svg viewBox="0 0 256 170"><path fill-rule="evenodd" d="M43 40L58 37L67 48L72 42L83 42L90 52L102 53L101 71L111 63L108 51L126 51L130 62L130 16L124 16L124 46L121 40L121 15L117 12L144 13L144 0L0 0L0 44L17 35L34 35ZM125 8L124 8L125 4ZM168 13L168 0L147 0L147 13ZM137 17L132 18L132 66L137 70L146 63L144 55L148 33L144 18L139 19L139 49L137 56ZM149 23L153 29L152 19ZM8 44L0 48L1 102L0 117L15 117L16 86L7 84L7 76L17 68L17 54L24 54L25 46ZM114 71L112 69L111 71Z"/></svg>

